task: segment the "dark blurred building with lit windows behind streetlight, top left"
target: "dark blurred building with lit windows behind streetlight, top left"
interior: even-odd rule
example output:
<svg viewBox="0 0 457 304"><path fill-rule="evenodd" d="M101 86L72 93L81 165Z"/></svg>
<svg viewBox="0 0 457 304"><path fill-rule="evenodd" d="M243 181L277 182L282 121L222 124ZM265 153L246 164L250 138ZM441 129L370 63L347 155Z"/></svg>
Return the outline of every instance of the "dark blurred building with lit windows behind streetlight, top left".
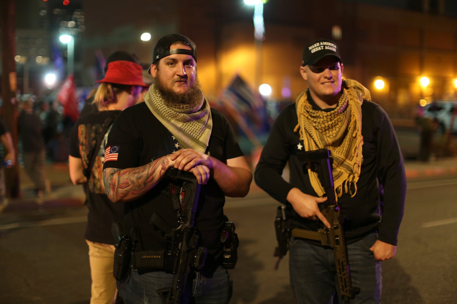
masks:
<svg viewBox="0 0 457 304"><path fill-rule="evenodd" d="M59 36L69 34L74 42L75 71L81 71L80 33L84 31L81 0L16 0L16 73L20 94L41 95L45 76L56 75L56 86L67 76L67 46ZM0 41L1 46L1 41ZM7 46L1 46L1 48ZM0 60L1 64L1 60ZM77 77L79 78L79 77Z"/></svg>

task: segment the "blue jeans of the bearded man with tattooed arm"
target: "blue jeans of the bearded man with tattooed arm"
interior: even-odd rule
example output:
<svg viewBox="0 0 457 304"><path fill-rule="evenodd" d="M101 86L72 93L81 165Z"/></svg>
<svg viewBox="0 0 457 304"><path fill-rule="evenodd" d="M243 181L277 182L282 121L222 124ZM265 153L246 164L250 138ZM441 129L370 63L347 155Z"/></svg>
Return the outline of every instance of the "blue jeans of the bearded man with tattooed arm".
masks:
<svg viewBox="0 0 457 304"><path fill-rule="evenodd" d="M117 281L117 289L125 304L162 304L157 289L169 288L173 282L173 274L154 271L138 274L132 269L129 278ZM219 266L211 278L196 273L192 281L192 299L185 303L195 304L227 304L232 297L232 280L227 269Z"/></svg>

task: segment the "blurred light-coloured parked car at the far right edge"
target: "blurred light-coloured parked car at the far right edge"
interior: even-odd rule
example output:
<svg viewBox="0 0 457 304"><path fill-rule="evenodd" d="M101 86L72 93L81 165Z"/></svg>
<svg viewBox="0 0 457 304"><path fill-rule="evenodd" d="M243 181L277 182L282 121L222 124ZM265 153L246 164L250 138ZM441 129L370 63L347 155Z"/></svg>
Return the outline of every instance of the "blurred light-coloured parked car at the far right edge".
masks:
<svg viewBox="0 0 457 304"><path fill-rule="evenodd" d="M452 124L452 133L457 133L457 100L436 100L424 106L424 117L436 121L436 131L447 132Z"/></svg>

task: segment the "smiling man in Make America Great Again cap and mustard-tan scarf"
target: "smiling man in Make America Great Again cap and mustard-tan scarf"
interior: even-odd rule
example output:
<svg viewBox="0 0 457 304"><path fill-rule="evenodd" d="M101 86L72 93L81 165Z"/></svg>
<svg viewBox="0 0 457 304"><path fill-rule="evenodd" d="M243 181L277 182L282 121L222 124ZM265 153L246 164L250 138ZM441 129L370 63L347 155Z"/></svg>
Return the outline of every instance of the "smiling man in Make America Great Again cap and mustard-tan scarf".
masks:
<svg viewBox="0 0 457 304"><path fill-rule="evenodd" d="M351 303L379 303L381 261L395 255L406 193L397 138L367 88L343 79L334 41L319 39L306 46L300 73L308 88L277 117L255 168L255 182L286 206L292 228L329 228L319 209L327 200L324 189L298 159L303 151L329 149L335 198L347 216L343 227L352 285L361 289ZM287 162L289 182L282 178ZM332 303L340 295L332 249L299 237L291 237L289 249L290 281L298 303Z"/></svg>

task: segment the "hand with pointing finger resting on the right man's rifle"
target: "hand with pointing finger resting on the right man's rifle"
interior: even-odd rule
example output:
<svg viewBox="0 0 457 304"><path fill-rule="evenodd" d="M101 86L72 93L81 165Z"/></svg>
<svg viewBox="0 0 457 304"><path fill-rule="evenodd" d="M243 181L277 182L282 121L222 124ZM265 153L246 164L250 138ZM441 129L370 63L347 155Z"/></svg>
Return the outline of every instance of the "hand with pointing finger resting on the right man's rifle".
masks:
<svg viewBox="0 0 457 304"><path fill-rule="evenodd" d="M303 193L298 188L292 188L287 194L287 201L291 203L295 212L299 216L317 221L321 220L325 227L330 228L330 224L325 216L320 212L318 204L327 201L326 197L310 196Z"/></svg>

